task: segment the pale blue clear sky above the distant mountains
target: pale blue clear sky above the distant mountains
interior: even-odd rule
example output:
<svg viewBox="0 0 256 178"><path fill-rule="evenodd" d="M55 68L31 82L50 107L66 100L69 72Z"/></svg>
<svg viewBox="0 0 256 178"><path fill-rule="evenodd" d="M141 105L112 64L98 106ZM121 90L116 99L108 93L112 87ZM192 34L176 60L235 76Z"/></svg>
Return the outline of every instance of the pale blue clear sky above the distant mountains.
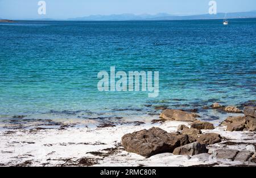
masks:
<svg viewBox="0 0 256 178"><path fill-rule="evenodd" d="M0 18L75 18L88 15L208 13L210 0L45 0L47 14L38 15L39 0L0 0ZM216 0L217 12L256 10L255 0Z"/></svg>

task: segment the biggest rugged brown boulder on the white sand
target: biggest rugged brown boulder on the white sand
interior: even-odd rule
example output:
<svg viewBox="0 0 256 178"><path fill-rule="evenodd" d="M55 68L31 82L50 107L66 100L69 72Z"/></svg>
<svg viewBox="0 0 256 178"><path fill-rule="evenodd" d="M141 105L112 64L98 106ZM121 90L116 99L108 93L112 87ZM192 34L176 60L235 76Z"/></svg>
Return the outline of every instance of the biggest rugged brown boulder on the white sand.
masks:
<svg viewBox="0 0 256 178"><path fill-rule="evenodd" d="M188 143L188 135L167 133L158 127L126 134L122 137L122 144L126 151L146 158L162 152L173 152L176 147Z"/></svg>

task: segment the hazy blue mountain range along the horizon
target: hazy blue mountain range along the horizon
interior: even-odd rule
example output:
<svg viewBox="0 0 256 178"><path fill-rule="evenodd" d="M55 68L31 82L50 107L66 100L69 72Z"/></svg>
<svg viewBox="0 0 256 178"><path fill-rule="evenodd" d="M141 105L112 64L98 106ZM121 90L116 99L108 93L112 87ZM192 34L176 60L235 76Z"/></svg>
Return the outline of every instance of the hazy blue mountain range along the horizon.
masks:
<svg viewBox="0 0 256 178"><path fill-rule="evenodd" d="M151 14L113 14L113 15L89 15L80 18L69 18L69 19L23 19L23 20L77 20L77 21L107 21L107 20L200 20L200 19L223 19L225 13L218 14L202 14L202 15L171 15L167 13L159 13L155 15ZM249 12L240 13L228 13L228 19L234 18L256 18L256 10ZM0 18L1 19L1 18Z"/></svg>

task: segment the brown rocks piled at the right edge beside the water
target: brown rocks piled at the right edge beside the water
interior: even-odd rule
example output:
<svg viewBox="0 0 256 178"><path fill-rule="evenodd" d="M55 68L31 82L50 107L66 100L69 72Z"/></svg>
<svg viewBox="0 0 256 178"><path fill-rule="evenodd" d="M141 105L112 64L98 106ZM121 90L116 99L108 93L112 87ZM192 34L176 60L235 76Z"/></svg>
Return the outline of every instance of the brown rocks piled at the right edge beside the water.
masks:
<svg viewBox="0 0 256 178"><path fill-rule="evenodd" d="M226 131L256 131L256 107L246 106L243 113L244 115L226 118L220 125L226 126Z"/></svg>

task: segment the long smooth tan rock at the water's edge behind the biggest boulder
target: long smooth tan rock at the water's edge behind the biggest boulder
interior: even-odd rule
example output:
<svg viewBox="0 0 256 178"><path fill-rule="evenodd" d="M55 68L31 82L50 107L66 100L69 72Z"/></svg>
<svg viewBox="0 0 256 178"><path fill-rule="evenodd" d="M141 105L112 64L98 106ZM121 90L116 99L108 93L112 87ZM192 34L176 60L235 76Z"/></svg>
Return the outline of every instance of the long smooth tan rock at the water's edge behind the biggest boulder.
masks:
<svg viewBox="0 0 256 178"><path fill-rule="evenodd" d="M166 109L160 114L160 118L170 121L193 122L196 121L196 117L199 117L199 115L175 109Z"/></svg>

